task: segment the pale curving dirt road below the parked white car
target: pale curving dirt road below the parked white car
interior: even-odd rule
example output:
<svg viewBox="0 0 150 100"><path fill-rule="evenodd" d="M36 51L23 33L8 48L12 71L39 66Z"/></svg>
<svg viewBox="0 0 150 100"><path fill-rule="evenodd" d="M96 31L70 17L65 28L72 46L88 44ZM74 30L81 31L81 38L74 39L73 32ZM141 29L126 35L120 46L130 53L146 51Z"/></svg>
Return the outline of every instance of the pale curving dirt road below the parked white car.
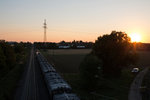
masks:
<svg viewBox="0 0 150 100"><path fill-rule="evenodd" d="M142 70L131 84L128 100L142 100L139 87L142 85L143 77L147 73L148 67Z"/></svg>

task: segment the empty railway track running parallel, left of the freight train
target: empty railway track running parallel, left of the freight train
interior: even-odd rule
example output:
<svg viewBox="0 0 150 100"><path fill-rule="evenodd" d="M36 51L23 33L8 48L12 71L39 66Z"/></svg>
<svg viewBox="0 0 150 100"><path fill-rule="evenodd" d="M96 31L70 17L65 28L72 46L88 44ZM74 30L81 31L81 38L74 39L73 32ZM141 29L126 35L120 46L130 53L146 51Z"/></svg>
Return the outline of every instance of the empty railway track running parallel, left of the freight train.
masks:
<svg viewBox="0 0 150 100"><path fill-rule="evenodd" d="M39 100L34 59L34 48L32 47L22 100Z"/></svg>

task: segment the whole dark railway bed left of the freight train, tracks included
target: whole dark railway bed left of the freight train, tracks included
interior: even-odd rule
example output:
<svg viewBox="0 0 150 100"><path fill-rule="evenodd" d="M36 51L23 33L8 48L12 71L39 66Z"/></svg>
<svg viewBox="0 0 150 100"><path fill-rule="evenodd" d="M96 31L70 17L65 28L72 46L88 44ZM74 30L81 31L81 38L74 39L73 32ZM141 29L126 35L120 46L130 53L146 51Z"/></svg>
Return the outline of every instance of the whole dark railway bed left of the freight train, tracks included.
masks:
<svg viewBox="0 0 150 100"><path fill-rule="evenodd" d="M27 68L18 84L15 100L50 100L40 67L31 49Z"/></svg>

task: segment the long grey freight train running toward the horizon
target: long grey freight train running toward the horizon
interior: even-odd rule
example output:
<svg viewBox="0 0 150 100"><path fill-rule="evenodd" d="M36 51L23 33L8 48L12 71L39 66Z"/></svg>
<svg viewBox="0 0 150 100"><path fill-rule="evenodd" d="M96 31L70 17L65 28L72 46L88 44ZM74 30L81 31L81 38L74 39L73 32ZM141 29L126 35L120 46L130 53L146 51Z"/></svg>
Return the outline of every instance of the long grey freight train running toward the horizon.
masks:
<svg viewBox="0 0 150 100"><path fill-rule="evenodd" d="M56 72L40 52L36 52L45 83L52 100L80 100L70 85Z"/></svg>

